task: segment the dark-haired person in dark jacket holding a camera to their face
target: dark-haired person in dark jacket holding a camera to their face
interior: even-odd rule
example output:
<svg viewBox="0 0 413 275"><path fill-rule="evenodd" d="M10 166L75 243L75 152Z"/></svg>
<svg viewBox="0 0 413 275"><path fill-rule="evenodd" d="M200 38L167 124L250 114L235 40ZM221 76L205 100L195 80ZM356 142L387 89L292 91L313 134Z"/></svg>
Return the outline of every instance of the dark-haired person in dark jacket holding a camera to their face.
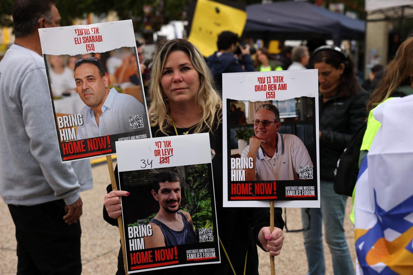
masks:
<svg viewBox="0 0 413 275"><path fill-rule="evenodd" d="M214 75L216 88L222 93L222 74L255 71L251 59L250 46L237 45L238 35L231 31L223 31L218 35L218 52L207 58L207 64ZM237 54L237 57L234 56Z"/></svg>

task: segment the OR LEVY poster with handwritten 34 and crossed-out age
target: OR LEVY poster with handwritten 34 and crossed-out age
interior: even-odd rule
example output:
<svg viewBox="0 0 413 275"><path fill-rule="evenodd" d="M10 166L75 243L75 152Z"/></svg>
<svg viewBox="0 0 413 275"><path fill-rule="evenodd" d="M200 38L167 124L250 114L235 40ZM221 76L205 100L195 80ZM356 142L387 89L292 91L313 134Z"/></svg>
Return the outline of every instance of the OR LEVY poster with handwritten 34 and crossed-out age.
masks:
<svg viewBox="0 0 413 275"><path fill-rule="evenodd" d="M130 193L121 198L128 272L219 263L209 135L116 149L119 187Z"/></svg>

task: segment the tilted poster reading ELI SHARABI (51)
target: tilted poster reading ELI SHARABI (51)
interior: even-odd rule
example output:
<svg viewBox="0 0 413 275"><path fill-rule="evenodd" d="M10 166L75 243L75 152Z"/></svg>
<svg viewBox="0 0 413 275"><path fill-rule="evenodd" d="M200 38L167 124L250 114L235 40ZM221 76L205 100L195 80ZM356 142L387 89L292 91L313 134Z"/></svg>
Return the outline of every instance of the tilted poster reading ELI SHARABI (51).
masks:
<svg viewBox="0 0 413 275"><path fill-rule="evenodd" d="M62 162L151 137L131 20L39 29Z"/></svg>

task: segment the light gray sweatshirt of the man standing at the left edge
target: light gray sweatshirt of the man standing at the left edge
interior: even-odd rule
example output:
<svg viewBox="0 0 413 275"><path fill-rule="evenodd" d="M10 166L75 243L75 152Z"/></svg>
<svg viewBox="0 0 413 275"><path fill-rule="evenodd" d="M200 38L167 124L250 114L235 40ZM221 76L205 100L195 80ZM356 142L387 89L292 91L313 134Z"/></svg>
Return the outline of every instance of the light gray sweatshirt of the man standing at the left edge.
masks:
<svg viewBox="0 0 413 275"><path fill-rule="evenodd" d="M0 62L0 195L6 204L76 202L89 160L62 164L43 58L12 45Z"/></svg>

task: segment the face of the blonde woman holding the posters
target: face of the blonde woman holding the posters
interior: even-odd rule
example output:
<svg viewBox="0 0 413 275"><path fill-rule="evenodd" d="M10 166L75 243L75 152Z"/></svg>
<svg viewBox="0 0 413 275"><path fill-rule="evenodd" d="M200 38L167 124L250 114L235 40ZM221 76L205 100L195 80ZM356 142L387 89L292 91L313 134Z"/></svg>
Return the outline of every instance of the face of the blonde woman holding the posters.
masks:
<svg viewBox="0 0 413 275"><path fill-rule="evenodd" d="M161 76L161 86L169 102L195 102L200 85L199 73L189 56L182 51L171 52Z"/></svg>

